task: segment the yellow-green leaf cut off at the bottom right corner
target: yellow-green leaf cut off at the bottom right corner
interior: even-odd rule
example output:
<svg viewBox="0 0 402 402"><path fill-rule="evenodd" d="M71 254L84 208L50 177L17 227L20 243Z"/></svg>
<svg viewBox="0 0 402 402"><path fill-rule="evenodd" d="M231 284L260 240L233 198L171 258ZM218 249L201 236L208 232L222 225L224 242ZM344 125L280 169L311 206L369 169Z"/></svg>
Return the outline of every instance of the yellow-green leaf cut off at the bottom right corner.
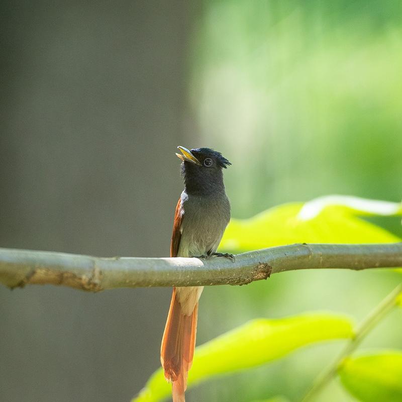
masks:
<svg viewBox="0 0 402 402"><path fill-rule="evenodd" d="M363 402L402 400L402 351L347 358L339 374L345 388Z"/></svg>

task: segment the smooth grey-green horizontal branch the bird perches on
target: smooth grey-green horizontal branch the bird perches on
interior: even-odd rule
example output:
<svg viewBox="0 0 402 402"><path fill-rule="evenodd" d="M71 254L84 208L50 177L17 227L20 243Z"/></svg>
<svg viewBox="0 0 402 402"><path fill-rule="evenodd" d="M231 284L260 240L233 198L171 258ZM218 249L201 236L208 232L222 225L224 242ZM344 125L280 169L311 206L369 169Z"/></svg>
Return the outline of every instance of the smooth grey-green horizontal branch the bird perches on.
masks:
<svg viewBox="0 0 402 402"><path fill-rule="evenodd" d="M402 267L402 243L294 244L236 256L198 258L91 257L0 248L0 283L53 284L88 291L119 287L242 285L296 269Z"/></svg>

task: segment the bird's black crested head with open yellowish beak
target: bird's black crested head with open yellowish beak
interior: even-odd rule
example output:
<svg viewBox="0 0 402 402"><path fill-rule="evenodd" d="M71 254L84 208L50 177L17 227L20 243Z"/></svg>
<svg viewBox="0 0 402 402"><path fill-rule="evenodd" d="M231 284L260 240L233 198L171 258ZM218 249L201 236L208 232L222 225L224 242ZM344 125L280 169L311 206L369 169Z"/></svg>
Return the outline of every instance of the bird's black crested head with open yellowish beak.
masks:
<svg viewBox="0 0 402 402"><path fill-rule="evenodd" d="M225 191L222 169L231 163L220 152L211 148L178 149L181 154L176 155L183 161L181 172L188 194L208 195Z"/></svg>

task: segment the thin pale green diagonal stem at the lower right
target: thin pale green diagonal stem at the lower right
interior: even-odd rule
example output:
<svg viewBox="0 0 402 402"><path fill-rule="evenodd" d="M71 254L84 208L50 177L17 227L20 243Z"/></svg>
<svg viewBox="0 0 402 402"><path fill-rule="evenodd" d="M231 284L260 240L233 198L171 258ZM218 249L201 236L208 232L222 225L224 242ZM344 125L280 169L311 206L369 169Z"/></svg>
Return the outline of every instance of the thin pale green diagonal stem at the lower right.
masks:
<svg viewBox="0 0 402 402"><path fill-rule="evenodd" d="M344 364L345 358L351 355L361 344L366 335L381 321L396 305L397 298L402 292L402 283L395 287L381 303L364 319L356 330L355 336L348 342L345 349L338 358L326 370L324 370L314 381L313 386L302 399L302 402L308 402L337 375L338 370Z"/></svg>

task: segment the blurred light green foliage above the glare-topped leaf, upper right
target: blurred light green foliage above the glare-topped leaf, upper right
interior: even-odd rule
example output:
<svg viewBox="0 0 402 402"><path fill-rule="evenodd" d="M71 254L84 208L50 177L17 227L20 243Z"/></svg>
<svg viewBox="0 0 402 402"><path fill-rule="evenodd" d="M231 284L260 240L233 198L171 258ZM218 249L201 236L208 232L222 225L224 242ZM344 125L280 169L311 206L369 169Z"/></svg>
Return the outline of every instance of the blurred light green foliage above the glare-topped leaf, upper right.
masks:
<svg viewBox="0 0 402 402"><path fill-rule="evenodd" d="M325 193L400 199L402 4L206 2L192 46L201 141L236 217Z"/></svg>

